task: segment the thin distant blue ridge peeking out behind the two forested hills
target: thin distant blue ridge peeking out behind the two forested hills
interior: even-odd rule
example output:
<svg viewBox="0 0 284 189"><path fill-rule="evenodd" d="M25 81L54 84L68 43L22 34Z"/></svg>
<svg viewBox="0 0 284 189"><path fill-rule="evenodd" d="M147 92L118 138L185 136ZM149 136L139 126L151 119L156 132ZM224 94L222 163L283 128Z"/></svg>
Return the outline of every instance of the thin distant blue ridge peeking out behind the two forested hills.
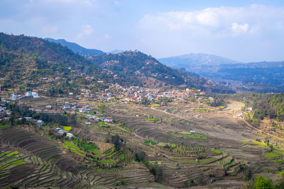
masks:
<svg viewBox="0 0 284 189"><path fill-rule="evenodd" d="M79 55L104 55L104 52L102 52L102 50L87 49L85 47L78 45L75 42L68 42L67 40L63 39L55 40L53 38L45 38L45 40L48 40L50 42L60 43L61 45L68 47L73 52L75 53L77 52Z"/></svg>

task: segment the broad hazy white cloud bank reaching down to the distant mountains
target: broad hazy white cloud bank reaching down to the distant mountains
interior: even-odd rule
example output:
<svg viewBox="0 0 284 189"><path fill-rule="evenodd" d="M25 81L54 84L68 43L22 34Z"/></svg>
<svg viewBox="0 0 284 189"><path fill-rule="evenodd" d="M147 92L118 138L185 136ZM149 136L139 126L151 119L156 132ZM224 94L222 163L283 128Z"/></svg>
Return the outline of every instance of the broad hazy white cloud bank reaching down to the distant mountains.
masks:
<svg viewBox="0 0 284 189"><path fill-rule="evenodd" d="M256 61L282 55L283 21L283 7L220 6L146 14L137 33L141 49L155 57L204 52L249 62L246 57Z"/></svg>

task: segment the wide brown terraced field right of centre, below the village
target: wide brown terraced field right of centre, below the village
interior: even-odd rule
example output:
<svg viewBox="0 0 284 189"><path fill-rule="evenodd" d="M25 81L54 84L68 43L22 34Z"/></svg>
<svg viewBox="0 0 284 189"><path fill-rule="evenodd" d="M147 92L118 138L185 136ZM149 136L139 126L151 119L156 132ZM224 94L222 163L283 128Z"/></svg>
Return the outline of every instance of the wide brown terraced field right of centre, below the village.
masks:
<svg viewBox="0 0 284 189"><path fill-rule="evenodd" d="M115 121L124 123L135 132L138 144L144 139L149 139L158 145L159 143L189 146L198 144L223 151L219 156L211 154L205 159L196 159L195 156L188 156L192 154L190 152L188 154L180 149L168 150L149 144L148 149L144 150L149 154L151 161L158 162L158 166L163 168L163 178L160 182L167 185L185 187L208 184L220 179L231 179L242 183L248 168L252 168L253 173L262 171L276 173L277 167L283 166L283 163L275 164L275 159L273 162L265 156L268 153L267 148L258 148L242 142L264 139L264 137L244 123L233 120L231 113L218 110L197 112L188 105L174 108L136 108L131 105L123 107L116 105L109 113ZM188 137L186 134L192 131L200 133L203 137ZM259 162L262 162L261 166Z"/></svg>

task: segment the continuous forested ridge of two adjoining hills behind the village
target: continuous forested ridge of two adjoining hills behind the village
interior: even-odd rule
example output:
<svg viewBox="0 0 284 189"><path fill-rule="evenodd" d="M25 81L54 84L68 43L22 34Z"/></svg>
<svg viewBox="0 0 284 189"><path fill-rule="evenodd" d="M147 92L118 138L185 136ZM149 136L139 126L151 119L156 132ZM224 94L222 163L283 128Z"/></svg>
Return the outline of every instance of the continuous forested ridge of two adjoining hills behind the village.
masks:
<svg viewBox="0 0 284 189"><path fill-rule="evenodd" d="M123 86L194 87L202 91L234 92L214 86L196 74L166 67L138 51L88 57L41 38L0 33L0 85L25 91L43 87L46 84L43 80L48 79L50 82L45 88L53 88L62 95L86 85L95 88L98 80ZM86 76L92 79L86 80Z"/></svg>

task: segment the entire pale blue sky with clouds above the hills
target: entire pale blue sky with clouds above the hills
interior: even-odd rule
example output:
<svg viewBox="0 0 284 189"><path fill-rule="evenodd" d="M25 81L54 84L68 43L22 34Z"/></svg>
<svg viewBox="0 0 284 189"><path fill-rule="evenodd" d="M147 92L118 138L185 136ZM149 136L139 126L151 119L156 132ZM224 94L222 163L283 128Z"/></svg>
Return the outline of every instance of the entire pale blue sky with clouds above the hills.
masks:
<svg viewBox="0 0 284 189"><path fill-rule="evenodd" d="M156 58L284 60L283 0L1 0L0 32Z"/></svg>

